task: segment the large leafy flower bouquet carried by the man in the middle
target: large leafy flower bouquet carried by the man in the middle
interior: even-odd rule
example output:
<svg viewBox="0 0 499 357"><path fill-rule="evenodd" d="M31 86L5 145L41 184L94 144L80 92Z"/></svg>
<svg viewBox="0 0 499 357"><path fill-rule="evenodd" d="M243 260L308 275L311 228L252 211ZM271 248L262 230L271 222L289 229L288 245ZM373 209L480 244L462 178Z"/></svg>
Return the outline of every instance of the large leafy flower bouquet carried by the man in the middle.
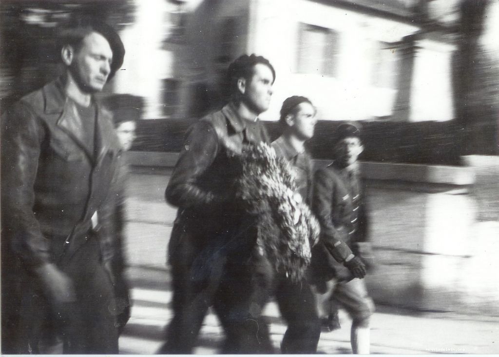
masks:
<svg viewBox="0 0 499 357"><path fill-rule="evenodd" d="M297 193L287 161L265 143L248 144L238 155L236 194L257 216L257 245L277 272L299 281L310 264L319 223Z"/></svg>

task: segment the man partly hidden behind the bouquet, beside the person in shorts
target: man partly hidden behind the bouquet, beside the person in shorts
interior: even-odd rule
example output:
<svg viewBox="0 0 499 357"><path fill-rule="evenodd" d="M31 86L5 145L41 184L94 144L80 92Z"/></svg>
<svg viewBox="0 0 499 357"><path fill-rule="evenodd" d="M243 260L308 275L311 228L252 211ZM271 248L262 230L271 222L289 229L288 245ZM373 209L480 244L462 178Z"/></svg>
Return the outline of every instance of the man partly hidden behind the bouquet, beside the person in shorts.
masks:
<svg viewBox="0 0 499 357"><path fill-rule="evenodd" d="M271 146L278 156L289 162L295 178L299 200L311 204L313 163L305 142L313 137L315 107L302 96L293 95L282 103L282 135ZM320 337L320 321L315 297L306 279L293 282L282 273L275 275L275 298L282 318L288 324L281 344L284 354L314 354Z"/></svg>

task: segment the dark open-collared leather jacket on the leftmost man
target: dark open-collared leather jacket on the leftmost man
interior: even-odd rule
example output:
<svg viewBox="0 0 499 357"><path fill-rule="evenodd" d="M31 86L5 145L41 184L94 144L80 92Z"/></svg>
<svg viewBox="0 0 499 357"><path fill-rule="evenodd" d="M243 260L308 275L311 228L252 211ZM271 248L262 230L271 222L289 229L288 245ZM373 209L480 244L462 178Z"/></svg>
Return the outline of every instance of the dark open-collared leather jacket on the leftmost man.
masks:
<svg viewBox="0 0 499 357"><path fill-rule="evenodd" d="M94 157L61 83L26 95L1 118L2 240L27 266L56 260L54 241L57 252L61 244L71 247L61 252L74 250L94 213L105 222L112 207L119 143L111 114L97 103ZM105 229L101 237L110 239Z"/></svg>

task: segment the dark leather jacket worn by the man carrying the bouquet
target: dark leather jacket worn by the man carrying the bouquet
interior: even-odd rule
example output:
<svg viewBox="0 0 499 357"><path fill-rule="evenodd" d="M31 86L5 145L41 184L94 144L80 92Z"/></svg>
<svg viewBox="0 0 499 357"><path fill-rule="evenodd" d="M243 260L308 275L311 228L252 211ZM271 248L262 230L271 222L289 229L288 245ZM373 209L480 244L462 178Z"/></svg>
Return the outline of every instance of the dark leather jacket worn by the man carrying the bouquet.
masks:
<svg viewBox="0 0 499 357"><path fill-rule="evenodd" d="M179 207L178 220L200 234L235 224L243 213L233 200L236 168L231 156L240 154L244 143L260 141L268 143L261 122L241 118L232 104L194 124L165 192L167 202Z"/></svg>

